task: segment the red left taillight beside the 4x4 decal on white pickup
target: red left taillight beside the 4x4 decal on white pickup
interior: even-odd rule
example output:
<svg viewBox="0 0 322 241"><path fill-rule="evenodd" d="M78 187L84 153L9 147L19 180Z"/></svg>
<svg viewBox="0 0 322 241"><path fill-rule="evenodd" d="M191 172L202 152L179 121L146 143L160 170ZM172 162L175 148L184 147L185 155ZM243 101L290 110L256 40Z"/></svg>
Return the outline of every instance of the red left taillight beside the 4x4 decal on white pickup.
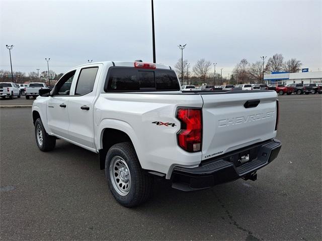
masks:
<svg viewBox="0 0 322 241"><path fill-rule="evenodd" d="M179 146L187 152L201 151L201 109L179 108L177 118L181 123L181 129L177 134Z"/></svg>

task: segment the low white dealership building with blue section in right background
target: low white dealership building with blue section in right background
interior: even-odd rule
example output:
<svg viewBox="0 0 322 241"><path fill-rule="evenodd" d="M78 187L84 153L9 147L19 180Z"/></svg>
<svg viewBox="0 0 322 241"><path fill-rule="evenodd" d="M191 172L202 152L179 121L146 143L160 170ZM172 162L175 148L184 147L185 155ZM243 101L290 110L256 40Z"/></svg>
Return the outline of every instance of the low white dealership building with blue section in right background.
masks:
<svg viewBox="0 0 322 241"><path fill-rule="evenodd" d="M287 72L273 72L271 74L264 74L264 80L267 84L292 84L303 83L313 84L322 83L322 71L312 72L299 72L299 73L287 73Z"/></svg>

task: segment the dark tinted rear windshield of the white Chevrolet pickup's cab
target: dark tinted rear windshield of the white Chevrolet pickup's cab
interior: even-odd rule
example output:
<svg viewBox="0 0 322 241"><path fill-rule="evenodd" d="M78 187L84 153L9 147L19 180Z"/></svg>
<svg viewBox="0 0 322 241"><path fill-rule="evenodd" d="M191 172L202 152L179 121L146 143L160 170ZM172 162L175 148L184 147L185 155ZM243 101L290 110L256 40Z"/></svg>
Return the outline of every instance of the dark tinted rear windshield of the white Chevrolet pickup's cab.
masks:
<svg viewBox="0 0 322 241"><path fill-rule="evenodd" d="M172 70L112 67L106 81L105 91L180 90L179 81Z"/></svg>

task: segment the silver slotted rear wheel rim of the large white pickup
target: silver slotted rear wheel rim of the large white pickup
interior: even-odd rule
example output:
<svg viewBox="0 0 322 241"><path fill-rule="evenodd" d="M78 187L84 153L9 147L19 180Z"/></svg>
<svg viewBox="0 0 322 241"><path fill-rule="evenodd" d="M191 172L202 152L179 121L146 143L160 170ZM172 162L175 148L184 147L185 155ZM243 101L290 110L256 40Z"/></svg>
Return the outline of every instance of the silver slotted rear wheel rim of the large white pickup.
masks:
<svg viewBox="0 0 322 241"><path fill-rule="evenodd" d="M115 191L126 196L131 188L131 174L123 158L115 156L110 163L110 178Z"/></svg>

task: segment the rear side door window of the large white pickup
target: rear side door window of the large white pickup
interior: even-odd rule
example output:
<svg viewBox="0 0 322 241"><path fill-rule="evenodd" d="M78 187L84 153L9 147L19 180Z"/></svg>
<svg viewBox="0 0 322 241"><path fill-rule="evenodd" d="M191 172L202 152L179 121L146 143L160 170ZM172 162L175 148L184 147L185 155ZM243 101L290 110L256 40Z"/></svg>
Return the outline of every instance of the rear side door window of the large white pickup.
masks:
<svg viewBox="0 0 322 241"><path fill-rule="evenodd" d="M88 94L93 91L98 69L98 67L94 67L81 70L76 84L75 95Z"/></svg>

